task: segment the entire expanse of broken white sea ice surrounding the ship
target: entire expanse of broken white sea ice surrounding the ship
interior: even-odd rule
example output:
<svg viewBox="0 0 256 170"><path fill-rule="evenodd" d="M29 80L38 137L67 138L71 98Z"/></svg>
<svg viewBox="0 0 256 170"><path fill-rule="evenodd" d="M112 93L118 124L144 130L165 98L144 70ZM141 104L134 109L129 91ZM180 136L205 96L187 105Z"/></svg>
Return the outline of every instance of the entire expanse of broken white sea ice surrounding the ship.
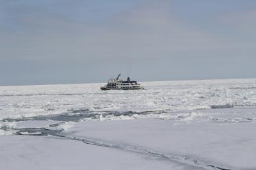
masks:
<svg viewBox="0 0 256 170"><path fill-rule="evenodd" d="M0 169L256 169L256 79L0 87Z"/></svg>

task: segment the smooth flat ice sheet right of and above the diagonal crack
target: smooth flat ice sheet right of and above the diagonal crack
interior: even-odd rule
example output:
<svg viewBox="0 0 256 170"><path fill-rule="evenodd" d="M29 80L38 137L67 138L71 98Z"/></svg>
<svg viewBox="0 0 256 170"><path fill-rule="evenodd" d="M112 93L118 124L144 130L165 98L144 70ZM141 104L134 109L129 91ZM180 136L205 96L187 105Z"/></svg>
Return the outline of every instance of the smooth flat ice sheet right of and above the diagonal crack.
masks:
<svg viewBox="0 0 256 170"><path fill-rule="evenodd" d="M230 169L256 169L256 123L139 119L82 121L68 135L198 160Z"/></svg>

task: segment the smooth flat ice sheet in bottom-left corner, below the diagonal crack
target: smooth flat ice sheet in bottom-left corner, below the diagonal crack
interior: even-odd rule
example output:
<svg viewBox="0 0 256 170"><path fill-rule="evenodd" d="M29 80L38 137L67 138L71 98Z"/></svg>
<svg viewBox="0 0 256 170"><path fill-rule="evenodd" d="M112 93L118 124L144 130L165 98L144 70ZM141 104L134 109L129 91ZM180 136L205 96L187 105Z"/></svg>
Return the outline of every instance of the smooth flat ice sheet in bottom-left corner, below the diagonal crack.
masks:
<svg viewBox="0 0 256 170"><path fill-rule="evenodd" d="M170 160L81 141L38 136L0 136L0 169L195 169Z"/></svg>

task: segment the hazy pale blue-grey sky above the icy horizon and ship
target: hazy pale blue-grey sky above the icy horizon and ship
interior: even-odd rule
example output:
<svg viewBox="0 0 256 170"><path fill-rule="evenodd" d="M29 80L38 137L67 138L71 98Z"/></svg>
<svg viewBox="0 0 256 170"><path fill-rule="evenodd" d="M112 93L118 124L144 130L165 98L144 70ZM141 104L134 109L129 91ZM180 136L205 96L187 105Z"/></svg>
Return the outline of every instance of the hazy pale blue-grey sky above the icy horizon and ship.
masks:
<svg viewBox="0 0 256 170"><path fill-rule="evenodd" d="M256 77L256 1L0 0L0 86Z"/></svg>

